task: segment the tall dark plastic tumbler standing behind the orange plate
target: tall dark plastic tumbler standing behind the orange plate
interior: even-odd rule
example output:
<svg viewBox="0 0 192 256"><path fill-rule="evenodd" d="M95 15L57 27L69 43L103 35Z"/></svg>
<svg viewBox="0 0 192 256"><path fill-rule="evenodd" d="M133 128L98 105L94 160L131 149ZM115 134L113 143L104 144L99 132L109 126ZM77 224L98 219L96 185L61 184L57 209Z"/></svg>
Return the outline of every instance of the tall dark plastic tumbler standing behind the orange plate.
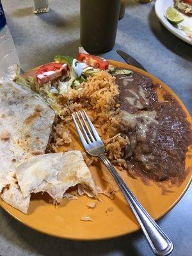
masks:
<svg viewBox="0 0 192 256"><path fill-rule="evenodd" d="M81 45L97 54L115 45L120 0L81 0Z"/></svg>

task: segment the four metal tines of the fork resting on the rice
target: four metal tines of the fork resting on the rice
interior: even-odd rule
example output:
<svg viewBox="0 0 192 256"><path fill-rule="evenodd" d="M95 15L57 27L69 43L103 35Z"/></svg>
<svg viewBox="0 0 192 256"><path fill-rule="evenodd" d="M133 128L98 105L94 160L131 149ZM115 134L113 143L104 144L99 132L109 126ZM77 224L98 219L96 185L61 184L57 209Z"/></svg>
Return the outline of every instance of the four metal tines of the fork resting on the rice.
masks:
<svg viewBox="0 0 192 256"><path fill-rule="evenodd" d="M86 145L90 145L96 141L101 141L99 134L97 133L95 127L93 126L90 118L86 114L86 112L78 111L75 113L76 118L79 121L79 124L81 126L81 129L79 125L77 124L76 118L74 116L74 113L72 114L72 118L74 120L74 124L76 126L77 132L79 134L79 138L81 139L83 146L86 147ZM88 124L87 124L87 123Z"/></svg>

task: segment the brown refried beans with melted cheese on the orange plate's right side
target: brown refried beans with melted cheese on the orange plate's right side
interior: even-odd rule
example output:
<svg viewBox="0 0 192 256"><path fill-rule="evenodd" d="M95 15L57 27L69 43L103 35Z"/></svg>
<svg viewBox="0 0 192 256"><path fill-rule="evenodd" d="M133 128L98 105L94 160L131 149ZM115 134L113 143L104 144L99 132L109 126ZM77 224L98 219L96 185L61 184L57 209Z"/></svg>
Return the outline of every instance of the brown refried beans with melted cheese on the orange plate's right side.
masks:
<svg viewBox="0 0 192 256"><path fill-rule="evenodd" d="M157 85L138 72L117 75L116 84L123 112L121 132L130 141L124 148L128 172L142 172L154 180L184 177L191 130L177 100L165 94L159 102Z"/></svg>

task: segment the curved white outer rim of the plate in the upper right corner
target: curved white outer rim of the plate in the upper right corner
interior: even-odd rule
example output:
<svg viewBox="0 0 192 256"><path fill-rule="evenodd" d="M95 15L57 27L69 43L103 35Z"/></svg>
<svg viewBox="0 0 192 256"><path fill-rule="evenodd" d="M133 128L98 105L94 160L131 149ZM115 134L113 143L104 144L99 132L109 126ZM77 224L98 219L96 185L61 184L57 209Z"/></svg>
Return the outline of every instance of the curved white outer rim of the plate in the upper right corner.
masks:
<svg viewBox="0 0 192 256"><path fill-rule="evenodd" d="M190 40L187 36L182 36L179 32L175 31L175 29L172 29L172 25L170 24L170 22L168 22L168 20L164 21L163 19L161 19L161 15L159 14L159 6L161 3L162 3L162 0L157 0L155 3L155 12L156 12L157 18L159 19L161 24L163 24L163 26L166 29L168 29L168 31L170 31L173 35L180 38L180 40L192 45L192 39ZM169 24L171 26L169 26Z"/></svg>

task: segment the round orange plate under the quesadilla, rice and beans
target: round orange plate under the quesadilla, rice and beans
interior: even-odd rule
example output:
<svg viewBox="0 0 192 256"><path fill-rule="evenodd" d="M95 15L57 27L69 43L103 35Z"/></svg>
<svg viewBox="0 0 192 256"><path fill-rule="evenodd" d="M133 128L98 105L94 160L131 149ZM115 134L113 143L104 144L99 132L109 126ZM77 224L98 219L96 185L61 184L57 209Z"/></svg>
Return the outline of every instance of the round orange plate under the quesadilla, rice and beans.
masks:
<svg viewBox="0 0 192 256"><path fill-rule="evenodd" d="M161 84L162 89L157 90L159 97L161 97L162 92L169 92L179 101L191 123L191 116L179 97L159 79L131 65L117 61L109 62L116 67L125 67L138 71L150 77L155 83ZM34 72L35 69L27 72L24 76L32 75ZM77 143L79 143L77 137L76 140ZM81 148L80 143L78 148ZM186 170L188 170L186 179L179 186L175 185L171 188L169 182L164 182L163 186L169 190L166 195L163 195L161 186L157 185L156 182L150 181L150 184L146 185L140 179L128 177L125 172L120 172L120 174L129 188L131 188L134 195L140 200L141 204L147 209L151 216L157 220L170 211L188 189L192 173L191 157L192 148L189 148L186 156ZM101 167L100 164L99 167L92 167L91 171L97 184L102 186L102 188L106 186L101 177L107 175L107 170L103 166ZM37 194L31 196L28 214L17 211L12 206L3 202L3 200L0 200L0 205L14 218L28 227L51 236L68 239L107 239L129 234L140 228L120 192L116 193L115 200L111 200L103 195L101 198L103 202L98 202L95 209L88 209L86 206L89 202L93 202L93 200L87 196L81 196L78 200L67 201L63 199L61 204L56 208L49 202L49 196ZM111 211L107 211L107 209ZM90 216L93 221L81 221L82 216L86 215Z"/></svg>

